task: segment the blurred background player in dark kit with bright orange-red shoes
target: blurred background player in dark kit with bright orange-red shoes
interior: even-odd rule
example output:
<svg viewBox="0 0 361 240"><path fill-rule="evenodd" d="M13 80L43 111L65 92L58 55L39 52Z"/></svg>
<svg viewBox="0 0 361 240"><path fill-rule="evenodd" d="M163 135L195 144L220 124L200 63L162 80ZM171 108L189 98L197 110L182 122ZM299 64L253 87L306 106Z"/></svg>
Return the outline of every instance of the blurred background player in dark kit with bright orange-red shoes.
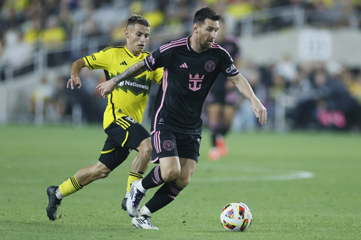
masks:
<svg viewBox="0 0 361 240"><path fill-rule="evenodd" d="M223 21L219 21L217 44L226 49L231 55L234 65L240 69L240 48L238 37L227 35L227 29ZM211 133L211 144L208 153L209 160L218 160L226 156L228 148L225 142L225 135L228 132L232 119L235 115L240 101L240 94L234 84L221 72L206 99L208 127Z"/></svg>

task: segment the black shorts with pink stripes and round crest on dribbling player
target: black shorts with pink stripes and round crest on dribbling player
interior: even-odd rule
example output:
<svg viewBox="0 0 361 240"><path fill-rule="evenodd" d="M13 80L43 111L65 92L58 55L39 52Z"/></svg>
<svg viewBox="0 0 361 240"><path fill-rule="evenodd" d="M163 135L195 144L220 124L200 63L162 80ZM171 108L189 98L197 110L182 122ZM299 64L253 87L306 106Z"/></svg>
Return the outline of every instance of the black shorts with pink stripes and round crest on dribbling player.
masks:
<svg viewBox="0 0 361 240"><path fill-rule="evenodd" d="M174 133L160 130L152 134L152 163L162 157L184 157L198 162L201 135Z"/></svg>

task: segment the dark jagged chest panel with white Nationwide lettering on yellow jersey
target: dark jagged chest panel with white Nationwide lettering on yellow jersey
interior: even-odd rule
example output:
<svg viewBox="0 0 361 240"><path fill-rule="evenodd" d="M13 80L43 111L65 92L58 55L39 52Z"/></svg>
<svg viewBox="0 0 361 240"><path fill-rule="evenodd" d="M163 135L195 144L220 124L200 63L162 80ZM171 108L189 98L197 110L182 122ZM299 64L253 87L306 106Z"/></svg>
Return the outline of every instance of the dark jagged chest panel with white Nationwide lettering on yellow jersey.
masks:
<svg viewBox="0 0 361 240"><path fill-rule="evenodd" d="M119 73L117 72L119 75ZM115 77L116 75L110 76L110 79ZM115 88L115 90L119 91L122 90L123 92L130 91L134 95L138 96L143 93L143 97L149 95L149 90L151 86L152 81L147 78L147 75L143 75L141 77L135 78L132 77L130 79L121 81Z"/></svg>

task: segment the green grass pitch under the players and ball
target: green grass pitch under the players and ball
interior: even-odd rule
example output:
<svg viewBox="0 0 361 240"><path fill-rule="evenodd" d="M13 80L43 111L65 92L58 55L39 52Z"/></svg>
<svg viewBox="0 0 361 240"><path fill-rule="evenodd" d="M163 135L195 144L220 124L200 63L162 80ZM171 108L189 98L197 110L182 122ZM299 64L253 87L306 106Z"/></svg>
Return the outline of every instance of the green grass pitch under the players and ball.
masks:
<svg viewBox="0 0 361 240"><path fill-rule="evenodd" d="M48 220L45 189L96 163L101 126L0 126L0 136L0 239L361 239L360 134L231 133L229 155L212 162L205 129L190 185L152 214L159 231L132 227L121 210L134 151ZM221 226L233 201L251 209L247 232Z"/></svg>

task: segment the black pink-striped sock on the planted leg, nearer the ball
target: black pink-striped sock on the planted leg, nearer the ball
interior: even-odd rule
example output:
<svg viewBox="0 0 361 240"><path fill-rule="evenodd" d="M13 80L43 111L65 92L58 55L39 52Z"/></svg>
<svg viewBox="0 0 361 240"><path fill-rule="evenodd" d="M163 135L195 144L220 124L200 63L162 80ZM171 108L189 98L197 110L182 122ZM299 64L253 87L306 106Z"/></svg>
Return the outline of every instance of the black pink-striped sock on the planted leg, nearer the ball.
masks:
<svg viewBox="0 0 361 240"><path fill-rule="evenodd" d="M183 188L174 181L166 182L156 191L145 206L151 213L154 213L173 201L182 190Z"/></svg>

